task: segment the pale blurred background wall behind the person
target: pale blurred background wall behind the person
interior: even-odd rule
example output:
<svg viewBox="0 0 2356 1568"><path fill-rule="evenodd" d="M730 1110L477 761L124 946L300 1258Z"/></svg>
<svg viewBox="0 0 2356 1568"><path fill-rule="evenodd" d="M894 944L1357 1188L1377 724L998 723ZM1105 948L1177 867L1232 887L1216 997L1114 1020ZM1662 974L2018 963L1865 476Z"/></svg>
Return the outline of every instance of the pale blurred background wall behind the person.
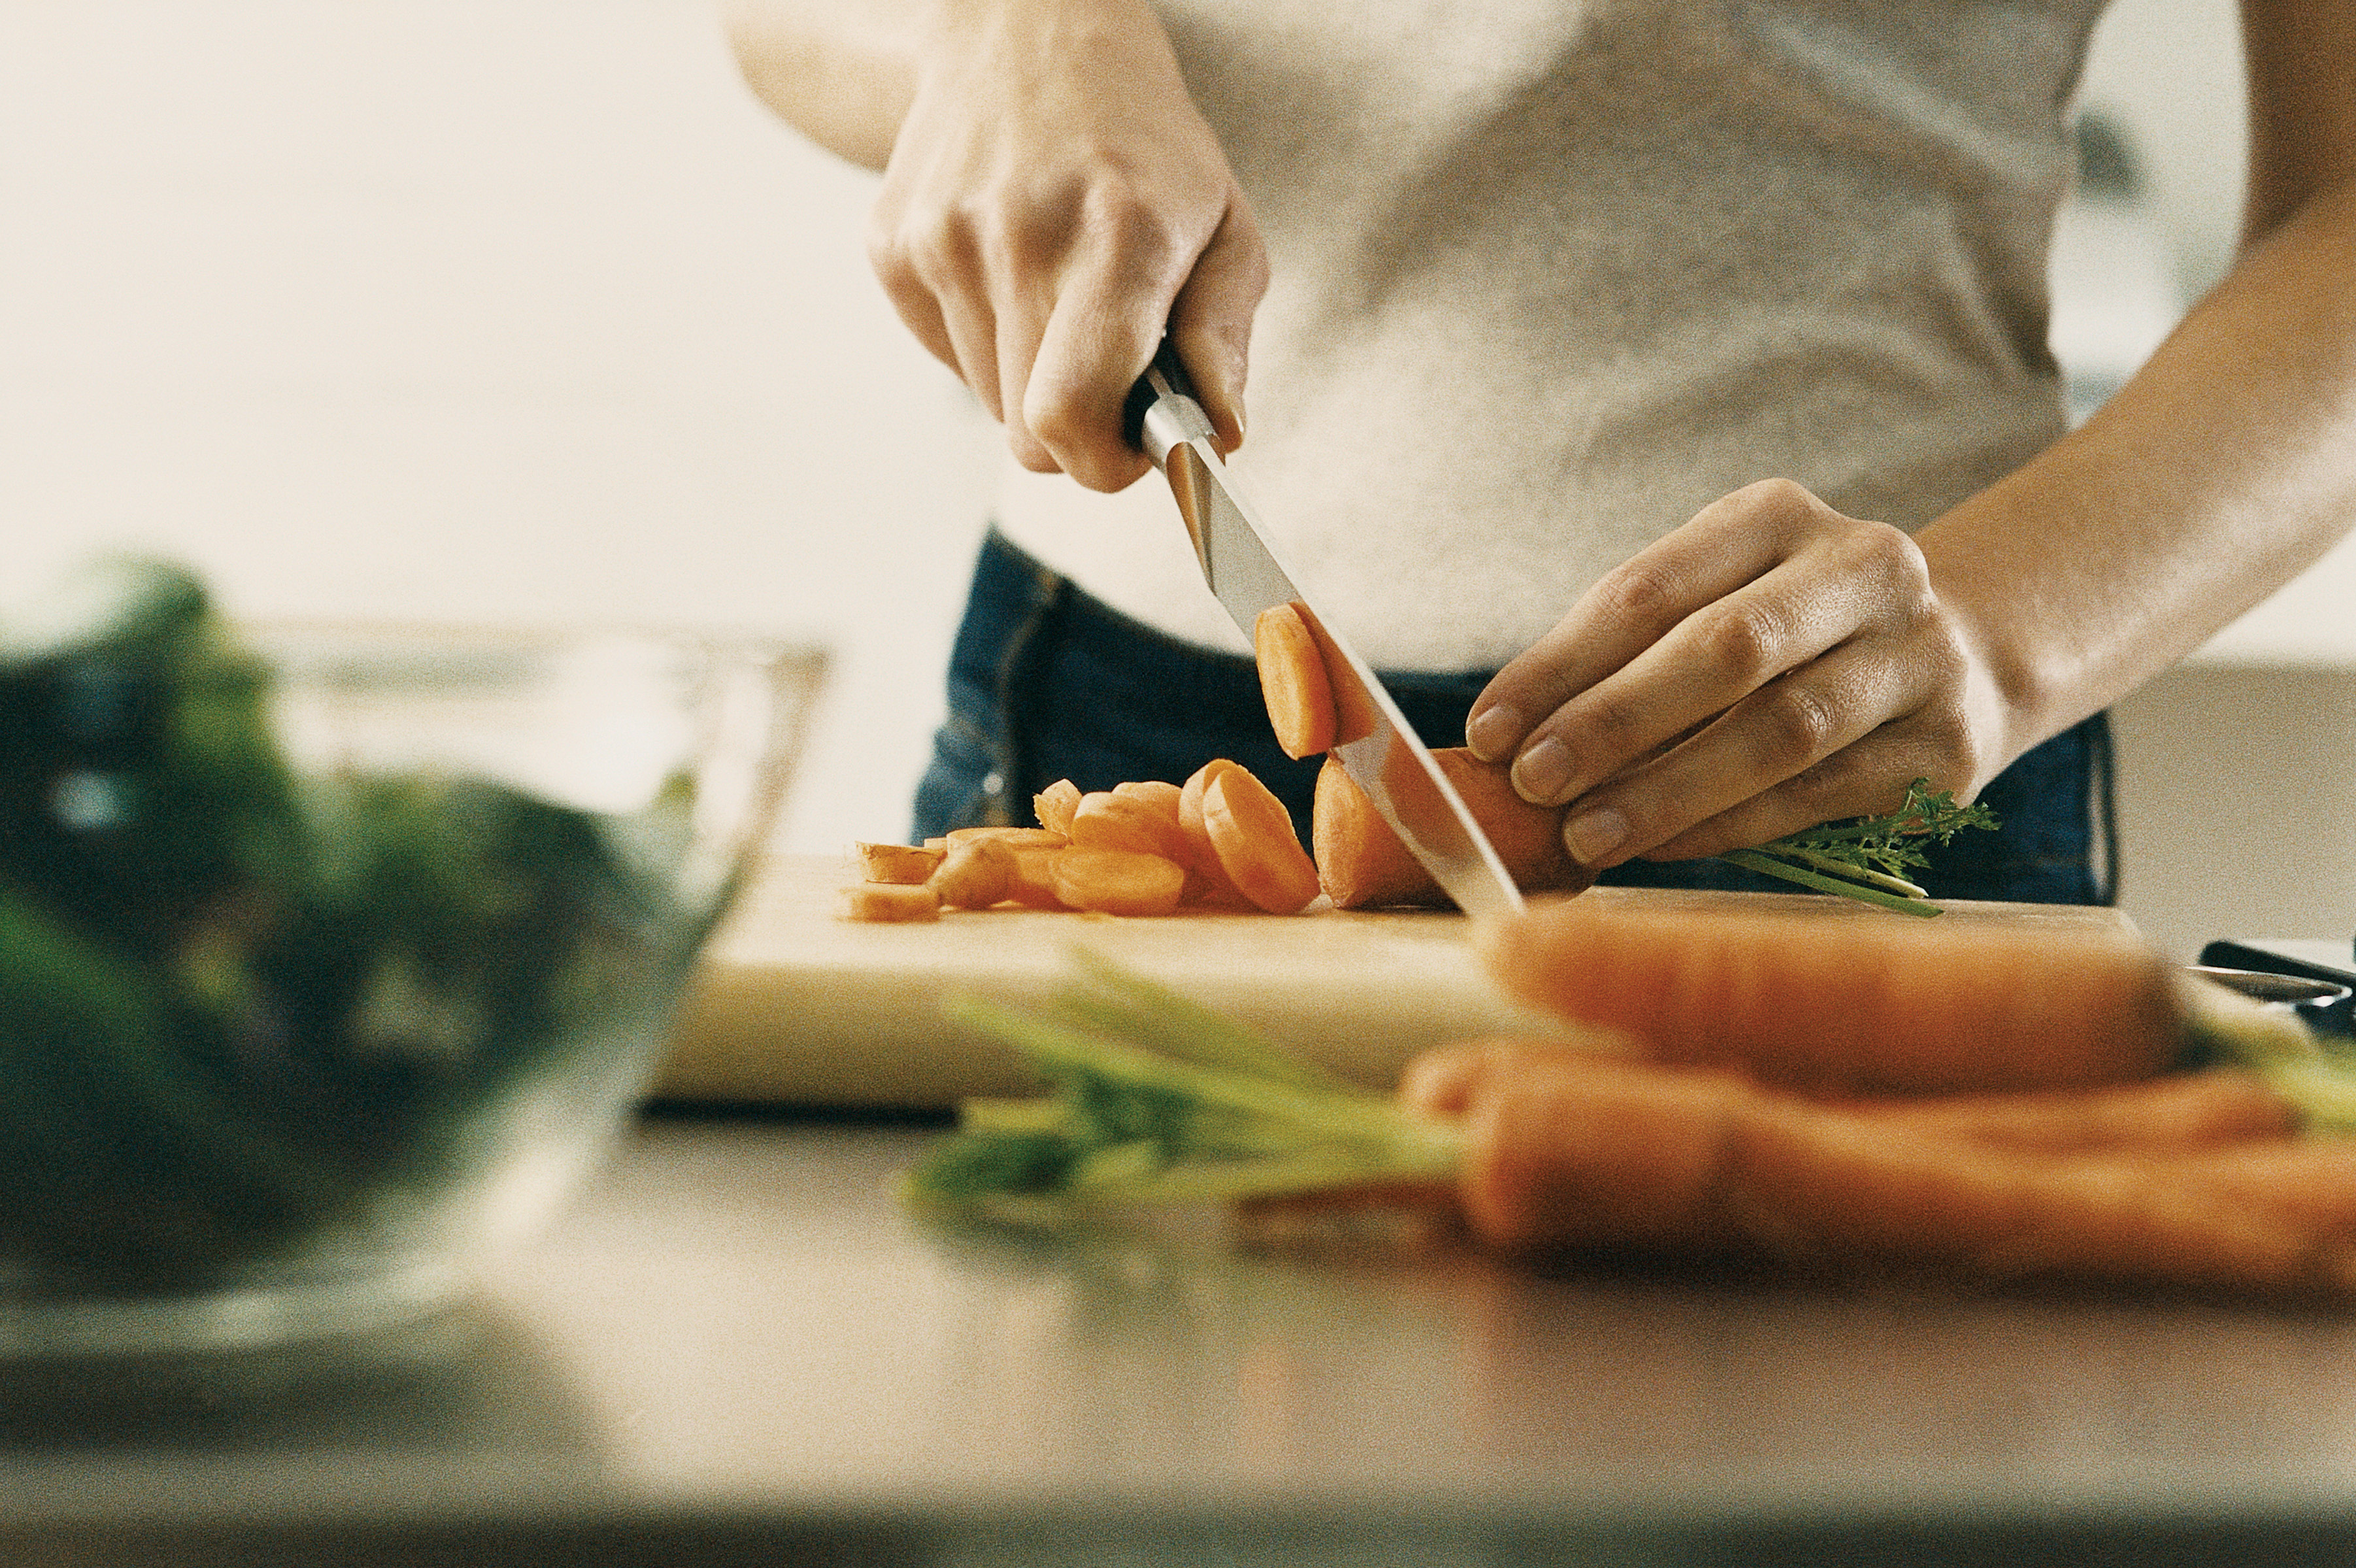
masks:
<svg viewBox="0 0 2356 1568"><path fill-rule="evenodd" d="M2054 344L2083 412L2222 275L2231 0L2120 0ZM874 179L704 0L0 7L0 598L101 546L240 614L836 655L780 845L900 838L997 433L867 275ZM2120 706L2165 946L2356 930L2356 546Z"/></svg>

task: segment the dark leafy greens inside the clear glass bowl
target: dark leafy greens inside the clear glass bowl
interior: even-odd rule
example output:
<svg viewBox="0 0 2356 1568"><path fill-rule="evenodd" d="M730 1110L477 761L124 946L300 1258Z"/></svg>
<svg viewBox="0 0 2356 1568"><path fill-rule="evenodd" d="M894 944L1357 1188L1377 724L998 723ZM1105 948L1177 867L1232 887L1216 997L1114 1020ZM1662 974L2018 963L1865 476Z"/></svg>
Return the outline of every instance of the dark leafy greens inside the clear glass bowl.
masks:
<svg viewBox="0 0 2356 1568"><path fill-rule="evenodd" d="M712 918L648 864L683 826L297 779L264 666L172 565L104 563L38 619L0 629L0 1267L191 1288L422 1238L565 1121L535 1095L596 1104L641 1059L613 1045Z"/></svg>

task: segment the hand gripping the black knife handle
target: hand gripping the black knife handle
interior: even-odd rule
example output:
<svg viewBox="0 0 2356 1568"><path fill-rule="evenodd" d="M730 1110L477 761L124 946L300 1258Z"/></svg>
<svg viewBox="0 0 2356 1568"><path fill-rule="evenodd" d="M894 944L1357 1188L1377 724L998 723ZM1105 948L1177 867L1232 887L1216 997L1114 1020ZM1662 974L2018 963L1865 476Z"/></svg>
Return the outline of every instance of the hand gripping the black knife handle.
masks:
<svg viewBox="0 0 2356 1568"><path fill-rule="evenodd" d="M945 0L869 254L1025 469L1121 490L1121 398L1164 327L1223 445L1268 252L1143 0Z"/></svg>

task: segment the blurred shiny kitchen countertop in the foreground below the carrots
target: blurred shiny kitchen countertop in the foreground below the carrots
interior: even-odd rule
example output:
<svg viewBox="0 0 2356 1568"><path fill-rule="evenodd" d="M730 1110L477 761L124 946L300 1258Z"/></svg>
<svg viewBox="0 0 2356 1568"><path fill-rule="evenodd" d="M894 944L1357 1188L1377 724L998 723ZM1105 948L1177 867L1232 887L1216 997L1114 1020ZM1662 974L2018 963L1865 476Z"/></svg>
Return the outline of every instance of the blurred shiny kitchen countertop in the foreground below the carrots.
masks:
<svg viewBox="0 0 2356 1568"><path fill-rule="evenodd" d="M926 1137L655 1116L434 1323L0 1370L0 1563L2356 1556L2356 1321L931 1231Z"/></svg>

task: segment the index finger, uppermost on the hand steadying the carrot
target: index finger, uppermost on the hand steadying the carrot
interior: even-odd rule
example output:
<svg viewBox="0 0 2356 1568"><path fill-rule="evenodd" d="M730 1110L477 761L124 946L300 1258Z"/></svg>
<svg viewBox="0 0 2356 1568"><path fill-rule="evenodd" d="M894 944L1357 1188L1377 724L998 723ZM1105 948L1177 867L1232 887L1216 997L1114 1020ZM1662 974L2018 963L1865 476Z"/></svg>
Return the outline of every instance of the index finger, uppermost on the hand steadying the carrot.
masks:
<svg viewBox="0 0 2356 1568"><path fill-rule="evenodd" d="M1668 636L1689 614L1783 560L1838 518L1788 480L1762 480L1710 501L1692 523L1604 574L1527 652L1505 664L1465 720L1465 744L1510 758L1538 723Z"/></svg>

